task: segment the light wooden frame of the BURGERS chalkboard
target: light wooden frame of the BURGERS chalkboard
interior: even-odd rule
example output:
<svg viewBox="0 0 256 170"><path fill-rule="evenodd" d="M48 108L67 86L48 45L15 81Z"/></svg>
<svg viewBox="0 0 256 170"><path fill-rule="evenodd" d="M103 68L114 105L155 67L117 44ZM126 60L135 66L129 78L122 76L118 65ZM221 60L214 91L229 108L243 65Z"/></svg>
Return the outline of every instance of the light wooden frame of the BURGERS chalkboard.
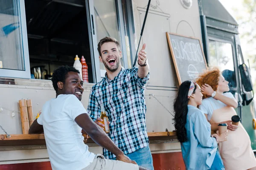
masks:
<svg viewBox="0 0 256 170"><path fill-rule="evenodd" d="M176 75L177 75L177 78L178 78L179 85L181 85L181 83L183 81L181 80L181 77L180 77L180 72L179 72L179 69L178 69L178 65L177 65L177 62L176 62L176 58L175 58L175 54L174 54L174 51L173 51L173 48L172 48L171 38L170 38L169 34L180 36L180 37L185 37L185 38L191 38L191 39L194 39L194 40L198 40L198 42L199 42L199 44L201 46L201 52L203 54L204 63L205 63L205 69L206 70L208 68L207 67L207 62L206 62L206 59L205 59L205 56L204 56L204 50L203 50L203 46L202 46L202 43L201 43L200 39L195 38L195 37L188 37L188 36L184 36L184 35L180 35L180 34L166 32L166 37L167 37L169 48L170 48L170 51L171 51L171 54L172 54L172 60L173 60L173 64L174 64L174 67L175 67Z"/></svg>

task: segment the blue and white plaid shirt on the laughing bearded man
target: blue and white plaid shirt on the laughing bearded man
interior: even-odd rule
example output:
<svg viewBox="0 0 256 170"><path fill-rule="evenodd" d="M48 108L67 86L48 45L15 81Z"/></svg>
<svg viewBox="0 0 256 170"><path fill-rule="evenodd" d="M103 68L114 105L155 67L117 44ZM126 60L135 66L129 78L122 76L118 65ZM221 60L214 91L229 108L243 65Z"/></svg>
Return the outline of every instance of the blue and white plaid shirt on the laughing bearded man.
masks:
<svg viewBox="0 0 256 170"><path fill-rule="evenodd" d="M145 122L145 84L149 74L138 77L138 68L125 69L113 79L107 75L93 86L89 96L87 111L95 121L100 117L100 104L103 103L110 122L109 137L125 155L148 146L148 134ZM116 156L106 149L107 159Z"/></svg>

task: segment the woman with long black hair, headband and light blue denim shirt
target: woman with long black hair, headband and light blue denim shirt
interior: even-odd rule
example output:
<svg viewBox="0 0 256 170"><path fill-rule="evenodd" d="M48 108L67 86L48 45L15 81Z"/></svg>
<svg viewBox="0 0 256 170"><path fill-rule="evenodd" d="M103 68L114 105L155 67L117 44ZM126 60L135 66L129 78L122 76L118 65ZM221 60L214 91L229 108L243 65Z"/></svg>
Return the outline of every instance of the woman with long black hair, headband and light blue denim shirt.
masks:
<svg viewBox="0 0 256 170"><path fill-rule="evenodd" d="M186 170L225 170L217 144L227 140L227 132L211 136L211 125L197 108L202 97L198 84L185 81L174 103L175 129Z"/></svg>

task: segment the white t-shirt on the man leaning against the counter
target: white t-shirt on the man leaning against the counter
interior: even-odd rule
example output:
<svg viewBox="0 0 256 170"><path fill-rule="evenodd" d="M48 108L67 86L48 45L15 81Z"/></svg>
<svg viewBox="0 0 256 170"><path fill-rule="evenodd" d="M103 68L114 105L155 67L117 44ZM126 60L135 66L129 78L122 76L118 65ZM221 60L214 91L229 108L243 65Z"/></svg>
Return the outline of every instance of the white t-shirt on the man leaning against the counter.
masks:
<svg viewBox="0 0 256 170"><path fill-rule="evenodd" d="M84 144L82 128L75 118L87 113L73 94L61 94L47 101L37 122L44 127L47 151L53 170L81 170L94 159Z"/></svg>

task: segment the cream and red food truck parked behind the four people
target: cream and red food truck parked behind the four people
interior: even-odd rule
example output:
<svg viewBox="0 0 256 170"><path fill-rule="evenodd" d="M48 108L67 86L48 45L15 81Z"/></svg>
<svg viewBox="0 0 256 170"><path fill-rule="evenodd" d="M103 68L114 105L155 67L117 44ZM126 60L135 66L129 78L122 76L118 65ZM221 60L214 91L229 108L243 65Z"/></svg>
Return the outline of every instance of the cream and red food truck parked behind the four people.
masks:
<svg viewBox="0 0 256 170"><path fill-rule="evenodd" d="M84 83L81 100L87 108L90 89L105 77L97 43L106 36L120 42L124 68L132 68L137 48L146 43L150 65L145 86L146 125L155 170L185 169L173 125L180 76L169 33L197 39L203 65L224 71L230 92L239 102L236 112L256 150L250 69L244 61L236 20L218 0L151 0L139 44L147 7L148 0L0 1L1 170L51 169L44 134L23 133L19 100L32 101L35 119L44 103L55 98L52 72L61 65L72 66L78 55L88 65L89 83ZM192 48L185 52L192 55ZM200 73L195 66L186 69L184 74L192 79ZM91 152L102 153L102 147L91 139L87 144Z"/></svg>

